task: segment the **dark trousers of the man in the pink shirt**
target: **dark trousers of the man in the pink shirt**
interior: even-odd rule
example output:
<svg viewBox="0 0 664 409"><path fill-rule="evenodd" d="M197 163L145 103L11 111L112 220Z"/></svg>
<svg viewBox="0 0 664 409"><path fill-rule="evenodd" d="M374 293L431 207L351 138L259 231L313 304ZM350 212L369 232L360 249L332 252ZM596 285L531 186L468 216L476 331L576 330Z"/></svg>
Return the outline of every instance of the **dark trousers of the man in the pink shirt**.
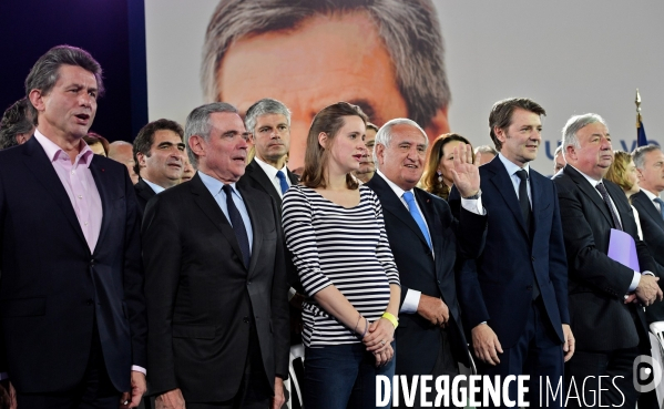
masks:
<svg viewBox="0 0 664 409"><path fill-rule="evenodd" d="M95 325L90 359L81 384L64 392L22 393L17 390L17 405L30 409L118 409L120 397L121 393L109 378Z"/></svg>

